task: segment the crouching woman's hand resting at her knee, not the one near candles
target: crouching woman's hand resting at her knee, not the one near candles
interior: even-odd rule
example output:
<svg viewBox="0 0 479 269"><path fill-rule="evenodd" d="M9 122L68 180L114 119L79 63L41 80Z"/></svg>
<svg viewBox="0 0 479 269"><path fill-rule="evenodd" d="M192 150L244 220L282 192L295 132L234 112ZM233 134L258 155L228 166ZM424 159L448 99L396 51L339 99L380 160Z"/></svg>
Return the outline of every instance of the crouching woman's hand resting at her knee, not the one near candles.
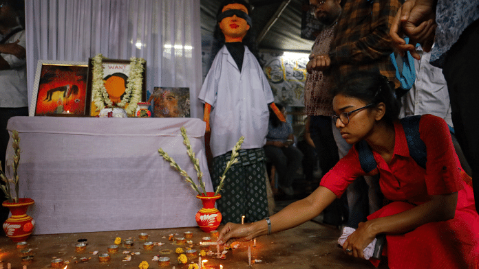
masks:
<svg viewBox="0 0 479 269"><path fill-rule="evenodd" d="M371 229L371 222L360 222L358 229L352 233L343 244L343 250L348 255L364 259L363 250L376 238L376 233ZM350 251L352 250L352 251Z"/></svg>

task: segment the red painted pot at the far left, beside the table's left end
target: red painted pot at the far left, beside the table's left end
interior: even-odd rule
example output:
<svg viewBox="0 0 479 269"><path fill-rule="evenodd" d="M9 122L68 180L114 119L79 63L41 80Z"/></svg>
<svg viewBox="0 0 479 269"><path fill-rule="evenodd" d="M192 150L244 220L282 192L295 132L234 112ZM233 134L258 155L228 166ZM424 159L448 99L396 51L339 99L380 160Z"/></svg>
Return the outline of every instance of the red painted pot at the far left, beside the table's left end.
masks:
<svg viewBox="0 0 479 269"><path fill-rule="evenodd" d="M34 203L33 199L20 198L19 202L5 201L1 204L12 213L12 216L3 222L3 231L13 242L25 241L32 234L35 221L27 215L27 209Z"/></svg>

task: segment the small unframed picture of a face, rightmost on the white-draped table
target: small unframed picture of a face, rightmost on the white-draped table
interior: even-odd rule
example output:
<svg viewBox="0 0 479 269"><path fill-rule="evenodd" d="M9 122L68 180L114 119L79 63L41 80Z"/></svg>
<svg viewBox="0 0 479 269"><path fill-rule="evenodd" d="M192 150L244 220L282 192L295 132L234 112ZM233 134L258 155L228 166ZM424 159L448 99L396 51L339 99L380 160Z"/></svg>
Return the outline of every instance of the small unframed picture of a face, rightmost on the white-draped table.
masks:
<svg viewBox="0 0 479 269"><path fill-rule="evenodd" d="M190 117L189 88L155 87L151 102L153 117Z"/></svg>

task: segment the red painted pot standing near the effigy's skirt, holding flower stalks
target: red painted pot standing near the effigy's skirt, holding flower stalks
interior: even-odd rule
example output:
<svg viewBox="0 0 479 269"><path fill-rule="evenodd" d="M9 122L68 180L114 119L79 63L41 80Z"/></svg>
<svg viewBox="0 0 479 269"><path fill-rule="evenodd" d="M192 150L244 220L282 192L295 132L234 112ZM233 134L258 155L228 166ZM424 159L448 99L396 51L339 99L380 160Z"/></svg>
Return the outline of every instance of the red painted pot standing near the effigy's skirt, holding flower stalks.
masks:
<svg viewBox="0 0 479 269"><path fill-rule="evenodd" d="M218 209L215 209L216 200L221 198L221 194L214 195L214 192L207 192L207 196L198 194L196 198L203 203L202 209L195 215L196 223L202 231L209 233L215 231L220 226L222 215Z"/></svg>

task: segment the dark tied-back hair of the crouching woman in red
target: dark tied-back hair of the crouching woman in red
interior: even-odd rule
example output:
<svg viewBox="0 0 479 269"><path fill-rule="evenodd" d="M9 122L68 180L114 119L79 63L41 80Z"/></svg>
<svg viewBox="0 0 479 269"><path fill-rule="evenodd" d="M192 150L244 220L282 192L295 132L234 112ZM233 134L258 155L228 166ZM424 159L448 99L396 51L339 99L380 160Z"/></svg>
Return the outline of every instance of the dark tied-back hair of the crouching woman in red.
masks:
<svg viewBox="0 0 479 269"><path fill-rule="evenodd" d="M362 100L366 104L383 102L386 107L383 119L393 124L399 118L401 104L394 96L394 84L384 75L367 71L359 71L343 78L338 86L332 89L332 96L344 95Z"/></svg>

